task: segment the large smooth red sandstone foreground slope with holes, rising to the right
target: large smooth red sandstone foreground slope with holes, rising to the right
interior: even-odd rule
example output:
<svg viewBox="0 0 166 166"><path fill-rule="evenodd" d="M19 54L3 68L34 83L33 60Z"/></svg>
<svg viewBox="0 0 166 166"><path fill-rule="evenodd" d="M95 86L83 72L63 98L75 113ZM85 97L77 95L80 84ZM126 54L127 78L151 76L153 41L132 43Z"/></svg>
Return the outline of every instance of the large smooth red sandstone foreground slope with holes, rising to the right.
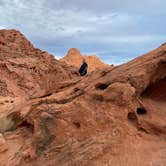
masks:
<svg viewBox="0 0 166 166"><path fill-rule="evenodd" d="M2 165L165 165L166 45L72 78L46 96L0 98Z"/></svg>

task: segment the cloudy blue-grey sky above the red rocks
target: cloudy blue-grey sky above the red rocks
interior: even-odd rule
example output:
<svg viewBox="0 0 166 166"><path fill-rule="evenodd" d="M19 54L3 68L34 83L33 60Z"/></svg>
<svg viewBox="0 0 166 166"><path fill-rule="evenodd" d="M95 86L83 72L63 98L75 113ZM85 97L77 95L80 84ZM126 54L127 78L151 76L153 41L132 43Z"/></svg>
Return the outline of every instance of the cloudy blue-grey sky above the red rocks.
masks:
<svg viewBox="0 0 166 166"><path fill-rule="evenodd" d="M18 29L57 58L71 47L120 64L166 42L166 0L0 0L0 29Z"/></svg>

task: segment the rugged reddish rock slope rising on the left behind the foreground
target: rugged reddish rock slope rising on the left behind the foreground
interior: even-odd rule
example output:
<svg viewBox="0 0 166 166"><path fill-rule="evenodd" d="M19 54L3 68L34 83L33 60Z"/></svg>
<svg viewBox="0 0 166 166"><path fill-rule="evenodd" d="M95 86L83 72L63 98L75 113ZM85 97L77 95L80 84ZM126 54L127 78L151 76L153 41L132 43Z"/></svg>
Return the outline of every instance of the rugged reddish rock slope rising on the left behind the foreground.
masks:
<svg viewBox="0 0 166 166"><path fill-rule="evenodd" d="M0 75L0 95L34 98L50 93L77 71L34 48L20 32L0 30Z"/></svg>

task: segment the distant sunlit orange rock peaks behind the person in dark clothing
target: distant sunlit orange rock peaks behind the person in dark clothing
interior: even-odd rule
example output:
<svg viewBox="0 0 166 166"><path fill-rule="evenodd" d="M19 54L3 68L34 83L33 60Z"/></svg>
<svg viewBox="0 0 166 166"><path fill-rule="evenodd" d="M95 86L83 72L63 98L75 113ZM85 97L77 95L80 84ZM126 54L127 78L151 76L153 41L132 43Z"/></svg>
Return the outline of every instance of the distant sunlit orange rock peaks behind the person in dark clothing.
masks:
<svg viewBox="0 0 166 166"><path fill-rule="evenodd" d="M60 61L67 63L68 65L75 66L79 68L82 64L82 60L85 59L88 63L88 72L95 71L96 69L105 69L107 67L113 67L113 65L109 66L96 56L96 55L84 55L82 56L80 51L76 48L71 48L67 55L60 59Z"/></svg>

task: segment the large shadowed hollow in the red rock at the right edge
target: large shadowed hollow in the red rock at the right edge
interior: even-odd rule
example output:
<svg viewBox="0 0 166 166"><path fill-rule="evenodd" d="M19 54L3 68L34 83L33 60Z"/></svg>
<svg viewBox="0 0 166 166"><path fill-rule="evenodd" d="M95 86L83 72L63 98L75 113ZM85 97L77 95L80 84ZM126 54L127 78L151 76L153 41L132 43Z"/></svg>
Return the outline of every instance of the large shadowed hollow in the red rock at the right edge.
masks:
<svg viewBox="0 0 166 166"><path fill-rule="evenodd" d="M164 54L162 56L165 56ZM161 61L151 76L150 82L141 93L143 107L165 113L166 108L166 62ZM138 111L139 112L139 111Z"/></svg>

